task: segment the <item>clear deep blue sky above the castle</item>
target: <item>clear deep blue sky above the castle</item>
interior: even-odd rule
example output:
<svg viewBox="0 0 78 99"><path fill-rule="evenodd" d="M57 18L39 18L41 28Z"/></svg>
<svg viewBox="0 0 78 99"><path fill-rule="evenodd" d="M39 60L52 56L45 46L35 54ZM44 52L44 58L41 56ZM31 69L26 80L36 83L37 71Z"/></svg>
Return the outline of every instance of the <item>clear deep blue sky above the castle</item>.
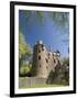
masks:
<svg viewBox="0 0 78 99"><path fill-rule="evenodd" d="M49 47L52 47L53 52L58 50L63 57L67 57L69 45L63 40L69 37L68 26L67 29L59 26L53 18L48 16L51 12L44 12L43 20L35 15L35 11L30 12L32 14L26 14L23 10L19 11L19 28L21 28L21 33L23 33L25 42L30 44L31 48L33 48L33 45L42 40L47 50Z"/></svg>

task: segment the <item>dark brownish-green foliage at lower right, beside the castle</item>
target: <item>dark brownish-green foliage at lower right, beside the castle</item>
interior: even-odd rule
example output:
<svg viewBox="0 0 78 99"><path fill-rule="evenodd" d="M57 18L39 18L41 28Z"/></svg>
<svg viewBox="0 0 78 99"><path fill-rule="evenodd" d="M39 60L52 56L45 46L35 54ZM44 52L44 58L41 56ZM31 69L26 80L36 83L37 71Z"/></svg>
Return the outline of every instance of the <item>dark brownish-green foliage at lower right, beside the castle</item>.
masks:
<svg viewBox="0 0 78 99"><path fill-rule="evenodd" d="M64 58L63 65L58 64L55 72L51 72L47 84L69 85L69 59Z"/></svg>

